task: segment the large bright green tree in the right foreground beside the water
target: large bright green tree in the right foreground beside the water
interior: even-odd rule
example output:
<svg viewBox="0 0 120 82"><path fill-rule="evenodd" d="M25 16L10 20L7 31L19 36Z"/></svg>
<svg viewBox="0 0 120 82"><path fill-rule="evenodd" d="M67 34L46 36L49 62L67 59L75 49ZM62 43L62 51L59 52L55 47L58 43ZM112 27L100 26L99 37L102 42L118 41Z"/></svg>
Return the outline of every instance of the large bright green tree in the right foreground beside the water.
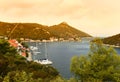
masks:
<svg viewBox="0 0 120 82"><path fill-rule="evenodd" d="M86 56L74 56L71 72L83 82L120 81L120 56L111 47L95 39Z"/></svg>

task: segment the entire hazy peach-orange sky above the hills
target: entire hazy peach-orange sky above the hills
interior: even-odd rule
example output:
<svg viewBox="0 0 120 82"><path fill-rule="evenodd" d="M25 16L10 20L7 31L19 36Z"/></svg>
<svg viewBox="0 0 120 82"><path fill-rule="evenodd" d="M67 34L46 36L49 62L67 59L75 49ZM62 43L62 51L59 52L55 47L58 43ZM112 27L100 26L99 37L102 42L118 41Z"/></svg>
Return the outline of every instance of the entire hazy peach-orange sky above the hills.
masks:
<svg viewBox="0 0 120 82"><path fill-rule="evenodd" d="M0 21L65 21L93 36L111 36L120 33L120 0L0 0Z"/></svg>

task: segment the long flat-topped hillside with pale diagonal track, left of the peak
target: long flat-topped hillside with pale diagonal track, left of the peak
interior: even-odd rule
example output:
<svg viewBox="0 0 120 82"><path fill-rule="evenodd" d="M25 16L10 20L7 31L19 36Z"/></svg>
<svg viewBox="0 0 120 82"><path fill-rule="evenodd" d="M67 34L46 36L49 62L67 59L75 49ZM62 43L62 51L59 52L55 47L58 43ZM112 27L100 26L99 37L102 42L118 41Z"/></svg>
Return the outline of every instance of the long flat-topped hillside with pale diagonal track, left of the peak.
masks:
<svg viewBox="0 0 120 82"><path fill-rule="evenodd" d="M14 29L14 27L16 27ZM53 36L45 30L47 26L36 23L0 23L0 35L10 38L48 39ZM12 30L14 31L12 32Z"/></svg>

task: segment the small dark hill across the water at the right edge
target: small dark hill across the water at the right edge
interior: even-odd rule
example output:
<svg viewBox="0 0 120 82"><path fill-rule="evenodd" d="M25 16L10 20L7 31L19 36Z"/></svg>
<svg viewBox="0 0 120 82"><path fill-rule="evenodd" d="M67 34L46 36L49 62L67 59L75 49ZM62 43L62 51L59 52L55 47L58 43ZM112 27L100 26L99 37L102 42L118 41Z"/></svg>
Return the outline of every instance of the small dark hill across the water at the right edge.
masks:
<svg viewBox="0 0 120 82"><path fill-rule="evenodd" d="M104 38L103 43L115 45L115 46L120 46L120 34Z"/></svg>

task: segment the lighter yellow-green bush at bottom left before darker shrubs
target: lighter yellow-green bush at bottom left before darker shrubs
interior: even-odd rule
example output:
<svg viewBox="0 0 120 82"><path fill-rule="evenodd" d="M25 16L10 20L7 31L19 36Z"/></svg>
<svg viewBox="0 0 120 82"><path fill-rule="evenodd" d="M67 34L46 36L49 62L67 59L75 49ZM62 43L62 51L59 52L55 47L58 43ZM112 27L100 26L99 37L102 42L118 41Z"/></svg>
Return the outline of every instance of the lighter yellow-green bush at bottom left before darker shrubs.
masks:
<svg viewBox="0 0 120 82"><path fill-rule="evenodd" d="M42 79L34 79L32 73L25 71L12 71L9 72L3 79L3 82L42 82Z"/></svg>

